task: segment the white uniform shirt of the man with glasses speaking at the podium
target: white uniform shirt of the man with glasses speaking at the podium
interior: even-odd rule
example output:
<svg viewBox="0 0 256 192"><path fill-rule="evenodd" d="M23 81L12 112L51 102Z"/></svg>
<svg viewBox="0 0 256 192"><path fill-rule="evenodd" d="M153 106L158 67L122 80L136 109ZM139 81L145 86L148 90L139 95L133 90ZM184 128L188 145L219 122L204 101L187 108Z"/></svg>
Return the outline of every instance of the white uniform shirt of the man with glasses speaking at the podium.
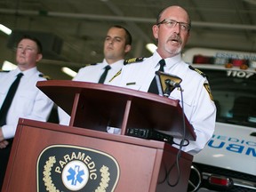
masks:
<svg viewBox="0 0 256 192"><path fill-rule="evenodd" d="M161 59L160 55L154 52L151 57L140 63L124 66L121 75L112 84L148 92L148 87L159 68L157 63ZM184 112L196 132L196 141L189 140L189 145L183 147L182 150L194 155L203 149L207 141L211 139L215 127L216 108L204 88L207 79L189 69L188 64L181 60L180 54L165 59L165 63L165 73L180 76L182 79L180 86L183 90ZM181 100L180 91L174 89L169 98ZM180 106L182 106L181 102ZM175 139L175 142L180 143L180 140ZM173 147L179 148L176 145Z"/></svg>

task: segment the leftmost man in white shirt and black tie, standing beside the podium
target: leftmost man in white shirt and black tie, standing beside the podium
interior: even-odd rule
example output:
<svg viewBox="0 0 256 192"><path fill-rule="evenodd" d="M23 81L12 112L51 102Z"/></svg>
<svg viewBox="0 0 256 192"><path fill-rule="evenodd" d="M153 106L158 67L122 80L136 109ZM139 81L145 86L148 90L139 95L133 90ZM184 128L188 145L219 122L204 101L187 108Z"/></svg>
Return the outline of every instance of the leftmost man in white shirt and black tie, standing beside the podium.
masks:
<svg viewBox="0 0 256 192"><path fill-rule="evenodd" d="M24 36L17 46L18 68L10 72L0 72L0 188L4 182L4 173L19 118L45 122L50 116L53 102L36 87L37 81L47 80L36 68L36 62L42 57L40 42L32 36ZM20 73L23 74L20 78L20 84L14 94L12 104L7 110L7 116L4 117L2 113L4 100L8 98L8 96L6 97L7 92ZM3 117L4 121L2 121Z"/></svg>

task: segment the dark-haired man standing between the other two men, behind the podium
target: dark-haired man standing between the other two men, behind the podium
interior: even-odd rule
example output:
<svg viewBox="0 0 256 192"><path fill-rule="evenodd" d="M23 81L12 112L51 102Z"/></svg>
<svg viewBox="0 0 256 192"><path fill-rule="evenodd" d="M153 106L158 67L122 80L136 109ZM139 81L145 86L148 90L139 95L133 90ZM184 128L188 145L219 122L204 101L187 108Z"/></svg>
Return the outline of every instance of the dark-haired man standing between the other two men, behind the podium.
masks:
<svg viewBox="0 0 256 192"><path fill-rule="evenodd" d="M104 41L104 60L84 68L80 68L73 81L83 81L100 83L100 76L106 67L108 74L101 84L110 84L112 79L120 72L124 66L124 56L132 49L132 36L130 32L121 26L113 26L108 29L108 34ZM58 108L60 124L68 125L70 116ZM109 132L111 132L109 130Z"/></svg>

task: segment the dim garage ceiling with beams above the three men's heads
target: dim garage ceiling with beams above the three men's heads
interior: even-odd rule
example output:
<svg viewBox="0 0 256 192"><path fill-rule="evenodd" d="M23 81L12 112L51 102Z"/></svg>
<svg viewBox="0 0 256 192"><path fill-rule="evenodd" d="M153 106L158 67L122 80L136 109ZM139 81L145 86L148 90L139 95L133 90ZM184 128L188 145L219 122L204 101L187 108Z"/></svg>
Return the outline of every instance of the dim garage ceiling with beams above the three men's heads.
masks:
<svg viewBox="0 0 256 192"><path fill-rule="evenodd" d="M145 45L155 43L151 27L156 14L171 4L186 8L192 19L186 49L199 46L256 52L255 0L0 0L0 23L12 29L60 36L60 55L51 60L44 58L43 63L47 64L40 68L55 79L70 78L56 73L56 68L68 66L77 70L84 64L101 61L104 37L115 24L132 33L132 52L127 58L148 57L151 53ZM0 33L0 39L4 53L0 61L13 61L15 54L5 45L8 36Z"/></svg>

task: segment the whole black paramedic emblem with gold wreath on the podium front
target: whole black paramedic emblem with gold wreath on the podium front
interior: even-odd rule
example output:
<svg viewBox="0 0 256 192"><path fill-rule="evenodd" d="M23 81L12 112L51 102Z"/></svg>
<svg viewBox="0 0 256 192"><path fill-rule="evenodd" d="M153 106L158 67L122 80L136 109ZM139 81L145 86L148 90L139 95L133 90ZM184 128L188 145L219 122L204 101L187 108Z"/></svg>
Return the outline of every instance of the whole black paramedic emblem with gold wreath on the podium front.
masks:
<svg viewBox="0 0 256 192"><path fill-rule="evenodd" d="M37 158L37 191L114 191L119 164L100 150L70 145L52 145Z"/></svg>

